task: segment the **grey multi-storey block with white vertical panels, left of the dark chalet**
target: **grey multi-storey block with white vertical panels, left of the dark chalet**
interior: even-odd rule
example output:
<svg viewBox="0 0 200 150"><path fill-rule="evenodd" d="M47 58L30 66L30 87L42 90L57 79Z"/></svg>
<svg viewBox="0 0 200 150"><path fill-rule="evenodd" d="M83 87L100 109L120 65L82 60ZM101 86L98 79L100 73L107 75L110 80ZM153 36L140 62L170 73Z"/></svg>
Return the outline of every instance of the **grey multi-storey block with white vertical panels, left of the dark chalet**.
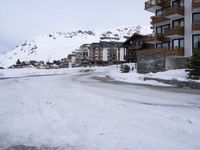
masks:
<svg viewBox="0 0 200 150"><path fill-rule="evenodd" d="M92 64L107 65L125 62L125 48L122 42L92 43L89 48L89 58Z"/></svg>

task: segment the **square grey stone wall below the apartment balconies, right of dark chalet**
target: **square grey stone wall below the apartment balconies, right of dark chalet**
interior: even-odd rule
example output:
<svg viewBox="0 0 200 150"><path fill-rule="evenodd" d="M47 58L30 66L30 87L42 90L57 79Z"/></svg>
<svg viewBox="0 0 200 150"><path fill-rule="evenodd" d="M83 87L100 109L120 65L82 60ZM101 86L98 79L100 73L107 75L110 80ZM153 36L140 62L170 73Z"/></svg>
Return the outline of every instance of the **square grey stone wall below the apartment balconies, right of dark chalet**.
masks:
<svg viewBox="0 0 200 150"><path fill-rule="evenodd" d="M137 72L149 73L165 71L166 56L162 52L137 52Z"/></svg>

